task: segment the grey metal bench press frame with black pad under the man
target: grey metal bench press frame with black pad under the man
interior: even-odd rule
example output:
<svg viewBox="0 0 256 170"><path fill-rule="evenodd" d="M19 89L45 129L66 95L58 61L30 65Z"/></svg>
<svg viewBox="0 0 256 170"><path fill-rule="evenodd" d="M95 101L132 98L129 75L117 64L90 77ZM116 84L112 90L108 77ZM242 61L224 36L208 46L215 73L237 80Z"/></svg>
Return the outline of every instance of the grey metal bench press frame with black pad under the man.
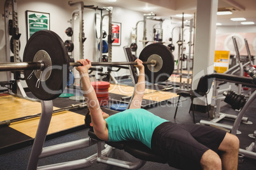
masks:
<svg viewBox="0 0 256 170"><path fill-rule="evenodd" d="M132 53L131 49L127 46L124 47L125 56L127 60L131 61ZM136 77L136 69L132 66L129 66L129 70L131 72L132 81L134 82L134 86L136 86L136 82L138 81L138 77ZM134 88L134 92L135 92ZM134 93L133 92L133 93ZM134 94L132 95L133 98ZM129 105L132 101L132 98L129 102ZM128 108L129 108L128 105ZM50 125L50 121L52 119L53 112L53 102L52 100L44 101L41 100L41 117L38 124L38 129L36 131L36 137L34 139L34 144L32 146L31 155L29 157L29 163L27 166L28 170L34 169L81 169L84 167L92 166L92 164L102 163L108 164L110 166L122 167L124 169L139 169L140 167L146 164L146 161L159 162L162 164L167 163L166 159L160 157L159 155L153 154L152 150L143 143L139 141L120 141L120 142L109 142L109 141L101 141L97 138L96 134L92 131L89 131L89 138L85 138L82 140L70 141L68 143L61 143L59 145L52 145L50 147L43 148L45 143L45 138L47 135L47 131ZM105 149L101 150L101 144L105 142ZM87 157L85 159L73 160L69 162L61 162L58 164L50 164L46 166L38 167L38 161L41 158L49 157L52 155L62 154L65 152L69 152L71 150L78 150L80 148L87 148L92 145L97 144L97 153ZM132 156L136 157L138 162L127 162L124 160L118 160L108 157L110 155L113 148L118 148L120 150L124 150L128 152Z"/></svg>

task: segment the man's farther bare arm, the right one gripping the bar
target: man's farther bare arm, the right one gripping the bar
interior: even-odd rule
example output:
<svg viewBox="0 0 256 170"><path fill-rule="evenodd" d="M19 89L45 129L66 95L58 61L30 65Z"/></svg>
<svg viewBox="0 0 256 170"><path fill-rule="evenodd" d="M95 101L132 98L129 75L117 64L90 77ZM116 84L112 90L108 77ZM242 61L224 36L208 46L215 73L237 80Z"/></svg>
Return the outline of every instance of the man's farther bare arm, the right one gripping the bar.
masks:
<svg viewBox="0 0 256 170"><path fill-rule="evenodd" d="M143 96L145 93L145 69L143 62L139 59L136 59L137 65L135 65L139 69L139 78L136 84L136 89L134 93L134 98L131 101L131 106L129 108L141 108L141 101L143 100Z"/></svg>

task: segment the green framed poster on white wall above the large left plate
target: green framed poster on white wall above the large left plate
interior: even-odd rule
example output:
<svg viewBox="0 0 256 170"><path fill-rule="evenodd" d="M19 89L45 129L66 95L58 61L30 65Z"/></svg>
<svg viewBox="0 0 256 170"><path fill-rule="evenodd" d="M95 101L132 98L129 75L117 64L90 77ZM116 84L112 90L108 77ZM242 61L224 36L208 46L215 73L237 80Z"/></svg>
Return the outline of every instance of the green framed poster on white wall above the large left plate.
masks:
<svg viewBox="0 0 256 170"><path fill-rule="evenodd" d="M50 30L50 13L26 11L27 39L38 30Z"/></svg>

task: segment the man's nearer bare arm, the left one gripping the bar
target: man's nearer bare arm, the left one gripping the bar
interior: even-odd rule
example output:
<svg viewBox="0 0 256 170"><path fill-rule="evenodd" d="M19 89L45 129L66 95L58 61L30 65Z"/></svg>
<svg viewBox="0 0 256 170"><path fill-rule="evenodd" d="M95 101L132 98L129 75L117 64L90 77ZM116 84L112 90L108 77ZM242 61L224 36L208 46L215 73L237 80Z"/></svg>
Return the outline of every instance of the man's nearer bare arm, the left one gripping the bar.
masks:
<svg viewBox="0 0 256 170"><path fill-rule="evenodd" d="M92 117L92 124L94 127L94 133L101 140L108 140L108 128L106 128L106 121L104 121L103 119L103 112L99 107L99 101L97 100L97 96L94 91L94 88L90 83L88 70L92 65L90 63L90 60L88 59L78 60L78 62L82 63L83 65L80 67L76 67L76 70L78 70L81 77L83 95L85 96L87 107L90 110L90 115Z"/></svg>

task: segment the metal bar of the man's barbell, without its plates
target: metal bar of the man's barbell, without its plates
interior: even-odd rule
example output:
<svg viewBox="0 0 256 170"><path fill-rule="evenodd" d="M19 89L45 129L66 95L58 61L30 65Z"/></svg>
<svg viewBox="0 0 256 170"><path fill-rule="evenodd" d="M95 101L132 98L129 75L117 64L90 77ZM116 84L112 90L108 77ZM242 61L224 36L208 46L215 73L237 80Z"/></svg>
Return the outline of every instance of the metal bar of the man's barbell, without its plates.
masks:
<svg viewBox="0 0 256 170"><path fill-rule="evenodd" d="M137 62L91 62L92 66L114 66L114 65L136 65ZM157 64L155 60L150 62L143 62L143 65L155 65ZM79 62L69 63L71 67L82 66ZM18 71L18 70L42 70L45 68L44 62L8 62L0 63L0 72L6 71Z"/></svg>

